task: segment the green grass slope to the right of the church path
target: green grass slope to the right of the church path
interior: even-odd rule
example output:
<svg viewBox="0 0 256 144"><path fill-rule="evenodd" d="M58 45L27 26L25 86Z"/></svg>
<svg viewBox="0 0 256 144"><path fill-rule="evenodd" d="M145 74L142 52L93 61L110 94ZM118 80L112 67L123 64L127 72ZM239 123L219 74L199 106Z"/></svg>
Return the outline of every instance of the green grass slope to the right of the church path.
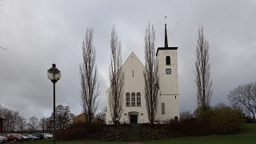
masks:
<svg viewBox="0 0 256 144"><path fill-rule="evenodd" d="M246 130L241 134L227 134L227 135L210 135L199 137L186 137L186 138L169 138L157 141L144 142L146 144L166 144L166 143L188 143L188 144L235 144L235 143L256 143L256 124L246 124Z"/></svg>

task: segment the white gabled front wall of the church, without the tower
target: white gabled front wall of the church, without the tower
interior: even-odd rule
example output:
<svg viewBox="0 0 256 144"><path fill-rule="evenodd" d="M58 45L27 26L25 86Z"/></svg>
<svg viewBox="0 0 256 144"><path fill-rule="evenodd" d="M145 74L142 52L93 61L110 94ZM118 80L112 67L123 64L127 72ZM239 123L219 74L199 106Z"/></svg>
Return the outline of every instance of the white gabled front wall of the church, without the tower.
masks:
<svg viewBox="0 0 256 144"><path fill-rule="evenodd" d="M124 72L124 95L123 95L123 111L120 118L120 122L130 123L130 117L137 117L137 122L148 122L146 114L146 103L144 96L144 77L143 70L145 67L142 62L139 61L138 57L131 53L126 59L126 62L122 65ZM106 92L107 95L109 91ZM126 104L126 94L130 94L130 106ZM132 94L135 94L135 100L132 98ZM138 95L140 94L140 101L138 101ZM110 105L109 102L106 112L106 123L112 121L110 116ZM133 119L135 121L135 119Z"/></svg>

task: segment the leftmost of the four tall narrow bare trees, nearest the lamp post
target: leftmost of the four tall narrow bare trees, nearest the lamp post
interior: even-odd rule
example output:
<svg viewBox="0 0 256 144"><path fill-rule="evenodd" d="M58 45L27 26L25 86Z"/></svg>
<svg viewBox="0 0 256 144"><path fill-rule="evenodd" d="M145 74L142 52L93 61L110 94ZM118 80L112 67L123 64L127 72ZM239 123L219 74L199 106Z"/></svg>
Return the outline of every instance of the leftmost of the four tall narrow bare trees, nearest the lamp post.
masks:
<svg viewBox="0 0 256 144"><path fill-rule="evenodd" d="M98 79L97 67L95 66L96 51L94 47L94 30L87 28L86 38L82 41L82 58L83 62L80 64L81 75L81 98L82 108L87 114L87 122L91 122L98 103Z"/></svg>

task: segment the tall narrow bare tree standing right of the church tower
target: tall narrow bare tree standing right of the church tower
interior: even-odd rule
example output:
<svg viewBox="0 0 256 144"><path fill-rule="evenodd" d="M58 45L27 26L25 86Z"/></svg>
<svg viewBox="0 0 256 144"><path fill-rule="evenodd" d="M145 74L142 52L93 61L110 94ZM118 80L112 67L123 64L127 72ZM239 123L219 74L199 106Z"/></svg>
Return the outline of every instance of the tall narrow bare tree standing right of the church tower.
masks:
<svg viewBox="0 0 256 144"><path fill-rule="evenodd" d="M213 94L209 48L210 45L204 36L203 26L199 26L195 62L195 83L199 110L207 110L210 107L210 98Z"/></svg>

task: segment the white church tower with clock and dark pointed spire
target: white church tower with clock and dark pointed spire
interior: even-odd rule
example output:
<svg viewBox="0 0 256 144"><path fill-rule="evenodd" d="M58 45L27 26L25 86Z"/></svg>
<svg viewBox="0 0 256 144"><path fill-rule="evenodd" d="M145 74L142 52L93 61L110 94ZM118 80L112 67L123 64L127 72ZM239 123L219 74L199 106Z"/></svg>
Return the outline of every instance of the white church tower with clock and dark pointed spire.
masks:
<svg viewBox="0 0 256 144"><path fill-rule="evenodd" d="M165 46L158 47L159 119L179 119L178 47L169 47L165 23Z"/></svg>

